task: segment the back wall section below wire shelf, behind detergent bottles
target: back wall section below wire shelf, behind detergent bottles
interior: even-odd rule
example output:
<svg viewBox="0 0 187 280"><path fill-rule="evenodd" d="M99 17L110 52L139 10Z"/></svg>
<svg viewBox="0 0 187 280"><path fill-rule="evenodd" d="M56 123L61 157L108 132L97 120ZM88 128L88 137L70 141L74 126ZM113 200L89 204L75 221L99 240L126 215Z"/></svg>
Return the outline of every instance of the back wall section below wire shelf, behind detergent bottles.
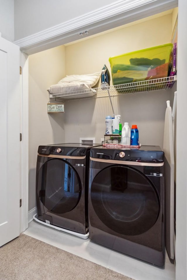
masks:
<svg viewBox="0 0 187 280"><path fill-rule="evenodd" d="M173 90L120 95L112 98L114 111L122 125L137 124L141 145L163 146L166 101L173 104ZM65 102L65 142L79 142L81 137L95 137L101 143L105 117L112 115L109 98Z"/></svg>

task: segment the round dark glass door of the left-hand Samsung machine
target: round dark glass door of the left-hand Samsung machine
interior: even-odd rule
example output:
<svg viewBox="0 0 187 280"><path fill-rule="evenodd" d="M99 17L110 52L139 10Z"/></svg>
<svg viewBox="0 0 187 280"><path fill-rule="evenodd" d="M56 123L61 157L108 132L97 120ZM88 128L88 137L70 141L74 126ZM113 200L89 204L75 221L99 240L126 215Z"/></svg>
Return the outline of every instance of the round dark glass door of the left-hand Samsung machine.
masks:
<svg viewBox="0 0 187 280"><path fill-rule="evenodd" d="M53 213L71 211L81 197L81 182L77 172L65 160L48 160L38 172L37 195Z"/></svg>

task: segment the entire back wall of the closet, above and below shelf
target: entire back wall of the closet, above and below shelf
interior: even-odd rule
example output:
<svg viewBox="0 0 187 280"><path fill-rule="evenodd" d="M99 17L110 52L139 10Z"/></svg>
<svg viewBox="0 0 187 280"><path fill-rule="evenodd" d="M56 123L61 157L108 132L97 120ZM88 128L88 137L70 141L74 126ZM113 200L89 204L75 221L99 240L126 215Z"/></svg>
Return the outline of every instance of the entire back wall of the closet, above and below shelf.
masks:
<svg viewBox="0 0 187 280"><path fill-rule="evenodd" d="M94 73L104 64L110 70L109 57L169 43L171 32L172 14L168 14L68 45L66 74ZM142 145L162 147L166 101L173 98L170 94L168 90L122 95L113 97L112 104L115 114L121 115L122 125L137 124ZM95 136L96 143L101 143L107 115L113 115L108 98L66 102L65 141Z"/></svg>

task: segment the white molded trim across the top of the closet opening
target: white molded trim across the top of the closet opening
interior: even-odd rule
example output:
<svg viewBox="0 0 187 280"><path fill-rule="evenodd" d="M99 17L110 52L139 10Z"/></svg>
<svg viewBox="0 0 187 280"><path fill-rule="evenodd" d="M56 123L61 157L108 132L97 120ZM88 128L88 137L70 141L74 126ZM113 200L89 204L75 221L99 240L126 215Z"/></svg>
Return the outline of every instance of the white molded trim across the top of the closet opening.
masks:
<svg viewBox="0 0 187 280"><path fill-rule="evenodd" d="M26 54L37 53L80 39L79 33L89 30L90 36L143 17L177 7L177 0L123 0L62 22L20 40L14 41Z"/></svg>

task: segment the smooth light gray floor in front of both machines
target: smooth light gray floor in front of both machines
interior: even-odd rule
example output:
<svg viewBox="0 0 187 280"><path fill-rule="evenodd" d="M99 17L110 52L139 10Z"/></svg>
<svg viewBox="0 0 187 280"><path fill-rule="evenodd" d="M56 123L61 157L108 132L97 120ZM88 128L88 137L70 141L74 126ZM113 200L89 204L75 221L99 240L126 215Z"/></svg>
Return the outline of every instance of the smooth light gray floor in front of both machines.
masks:
<svg viewBox="0 0 187 280"><path fill-rule="evenodd" d="M136 280L175 280L175 265L167 255L162 269L34 220L23 233Z"/></svg>

